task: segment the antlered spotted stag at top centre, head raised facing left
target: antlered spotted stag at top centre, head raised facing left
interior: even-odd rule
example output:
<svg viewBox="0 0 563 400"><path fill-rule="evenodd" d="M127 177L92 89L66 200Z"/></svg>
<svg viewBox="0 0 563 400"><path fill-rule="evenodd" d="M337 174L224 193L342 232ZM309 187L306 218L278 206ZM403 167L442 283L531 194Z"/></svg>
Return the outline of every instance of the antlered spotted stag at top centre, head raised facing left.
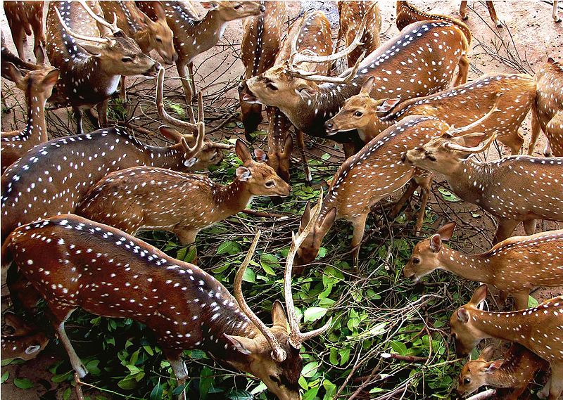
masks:
<svg viewBox="0 0 563 400"><path fill-rule="evenodd" d="M376 82L373 98L425 96L446 89L456 65L460 66L456 85L466 81L467 51L467 38L452 22L417 22L357 63L358 73L353 68L329 79L300 72L296 67L300 62L320 63L337 57L299 53L288 63L247 79L239 91L243 101L277 107L297 129L326 138L324 122L336 115L346 98L358 94L369 77ZM315 81L330 82L317 85ZM349 133L332 138L341 143L359 140Z"/></svg>

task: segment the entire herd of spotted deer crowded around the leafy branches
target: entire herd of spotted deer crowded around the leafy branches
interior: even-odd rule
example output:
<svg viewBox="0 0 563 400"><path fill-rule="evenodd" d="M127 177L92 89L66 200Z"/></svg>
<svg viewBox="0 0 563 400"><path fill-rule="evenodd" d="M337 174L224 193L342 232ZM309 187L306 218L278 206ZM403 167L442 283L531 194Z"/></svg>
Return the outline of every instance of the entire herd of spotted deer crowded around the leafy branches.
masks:
<svg viewBox="0 0 563 400"><path fill-rule="evenodd" d="M466 19L467 1L461 3ZM502 27L493 2L486 3ZM553 3L552 17L560 22ZM499 388L499 398L519 399L536 371L550 370L538 395L559 399L563 297L531 308L529 300L536 288L563 286L563 230L536 233L538 220L563 222L563 64L548 58L534 76L496 73L467 82L469 27L406 1L396 2L400 32L387 41L380 34L384 15L372 1L338 2L336 42L322 11L306 11L288 27L284 1L199 6L206 10L203 17L190 1L49 1L44 33L43 1L4 1L18 56L3 37L2 76L23 91L27 124L1 134L1 256L15 309L25 311L27 321L6 313L13 332L3 333L2 358L31 360L46 347L49 335L30 318L44 299L75 371L78 399L88 370L65 322L79 308L146 325L178 385L188 378L184 350L202 349L251 373L279 399L300 399L301 346L324 335L331 320L301 333L292 275L307 273L336 219L353 225L350 253L354 264L360 262L369 213L405 186L388 218L395 219L420 188L418 235L439 174L458 198L495 218L493 247L481 254L448 247L446 242L455 241L456 224L450 222L415 245L403 274L419 282L443 269L481 283L450 318L458 356L483 339L512 342L500 358L494 359L498 349L490 345L467 362L457 392L469 395L488 385ZM213 48L233 20L243 20L241 121L252 141L265 112L267 150L251 152L241 138L233 146L205 137L194 58ZM36 64L25 58L23 42L30 34ZM341 58L348 69L337 75L333 66ZM187 121L166 110L160 63L177 67ZM126 99L125 77L138 75L156 81L158 116L168 125L156 135L172 144L149 146L109 124L108 101L119 86ZM48 140L48 105L71 107L76 131ZM530 111L531 139L528 155L522 155L519 128ZM100 129L85 133L84 113ZM192 245L199 231L241 212L255 196L290 195L292 127L307 183L312 174L305 134L341 143L346 160L326 194L321 190L317 204L303 210L286 257L286 307L274 302L268 327L248 307L242 288L260 232L236 273L234 296L200 267L134 235L170 231L182 245ZM540 131L548 139L545 157L533 156ZM511 155L478 160L495 140ZM232 183L194 173L219 164L233 148L241 163ZM526 236L512 236L520 222ZM500 292L497 304L504 310L483 309L488 288ZM185 399L186 392L179 397Z"/></svg>

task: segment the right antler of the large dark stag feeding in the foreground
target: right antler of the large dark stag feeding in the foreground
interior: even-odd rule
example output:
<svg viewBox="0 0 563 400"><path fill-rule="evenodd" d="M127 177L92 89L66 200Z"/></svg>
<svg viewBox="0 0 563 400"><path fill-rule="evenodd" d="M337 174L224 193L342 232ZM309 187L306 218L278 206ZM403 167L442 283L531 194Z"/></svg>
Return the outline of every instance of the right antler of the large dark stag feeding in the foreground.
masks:
<svg viewBox="0 0 563 400"><path fill-rule="evenodd" d="M289 344L294 349L300 349L301 344L312 337L318 336L321 333L326 331L331 322L332 318L322 326L322 328L318 328L315 330L311 330L308 333L301 333L299 330L299 320L296 316L295 306L293 305L293 295L291 294L291 270L293 269L293 259L295 259L297 250L303 240L309 235L310 231L312 231L313 226L317 224L317 218L322 209L322 190L319 196L319 202L315 207L312 209L312 215L309 219L307 226L295 236L295 233L291 233L291 247L289 247L289 252L287 253L287 260L286 260L286 271L284 275L284 293L286 297L286 309L287 309L287 319L289 321Z"/></svg>

